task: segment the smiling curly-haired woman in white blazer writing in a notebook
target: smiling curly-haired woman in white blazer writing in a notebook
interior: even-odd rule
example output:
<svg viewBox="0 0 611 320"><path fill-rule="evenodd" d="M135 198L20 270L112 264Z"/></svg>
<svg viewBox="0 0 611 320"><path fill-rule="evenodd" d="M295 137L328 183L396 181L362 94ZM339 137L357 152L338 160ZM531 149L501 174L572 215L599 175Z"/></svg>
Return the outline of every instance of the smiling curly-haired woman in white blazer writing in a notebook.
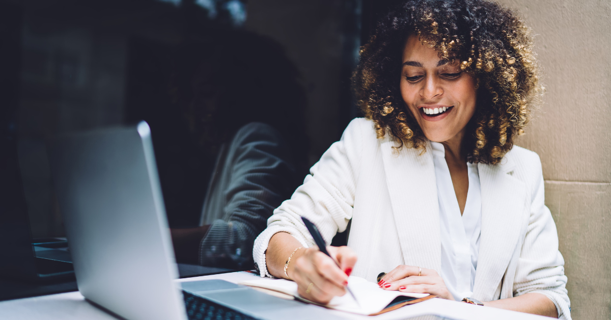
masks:
<svg viewBox="0 0 611 320"><path fill-rule="evenodd" d="M529 28L493 2L390 12L354 76L365 119L269 218L254 248L262 276L325 303L349 274L387 272L386 290L571 318L540 160L513 146L541 93L532 47ZM327 244L349 228L349 247L329 247L340 267L299 216Z"/></svg>

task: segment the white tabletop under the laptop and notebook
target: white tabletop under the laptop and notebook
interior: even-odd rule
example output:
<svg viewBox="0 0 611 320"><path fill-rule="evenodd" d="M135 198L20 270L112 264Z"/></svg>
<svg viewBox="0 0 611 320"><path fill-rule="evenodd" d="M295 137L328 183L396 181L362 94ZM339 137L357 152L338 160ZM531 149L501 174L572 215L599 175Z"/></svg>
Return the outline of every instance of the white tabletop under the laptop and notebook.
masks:
<svg viewBox="0 0 611 320"><path fill-rule="evenodd" d="M258 278L247 272L222 273L219 275L207 275L203 277L185 278L177 281L197 281L222 279L238 283L243 280ZM455 302L443 299L431 299L424 302L408 305L395 311L380 314L379 316L360 316L358 314L345 313L342 311L329 310L337 316L345 319L355 320L393 320L407 319L425 314L437 314L456 320L543 320L549 319L532 314L518 313L514 311L500 310L496 308L469 305L468 303ZM32 297L0 302L0 319L49 319L49 320L116 320L90 303L88 303L80 292L67 292L52 294L50 296Z"/></svg>

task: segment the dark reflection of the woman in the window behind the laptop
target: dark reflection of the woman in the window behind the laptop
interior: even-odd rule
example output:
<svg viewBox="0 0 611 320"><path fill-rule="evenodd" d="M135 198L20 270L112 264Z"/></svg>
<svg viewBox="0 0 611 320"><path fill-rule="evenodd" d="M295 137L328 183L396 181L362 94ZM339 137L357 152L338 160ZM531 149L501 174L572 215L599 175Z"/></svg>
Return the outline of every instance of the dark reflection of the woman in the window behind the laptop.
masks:
<svg viewBox="0 0 611 320"><path fill-rule="evenodd" d="M297 77L276 43L246 31L189 37L176 51L174 103L216 159L201 226L171 230L178 262L252 269L254 239L299 184L307 152Z"/></svg>

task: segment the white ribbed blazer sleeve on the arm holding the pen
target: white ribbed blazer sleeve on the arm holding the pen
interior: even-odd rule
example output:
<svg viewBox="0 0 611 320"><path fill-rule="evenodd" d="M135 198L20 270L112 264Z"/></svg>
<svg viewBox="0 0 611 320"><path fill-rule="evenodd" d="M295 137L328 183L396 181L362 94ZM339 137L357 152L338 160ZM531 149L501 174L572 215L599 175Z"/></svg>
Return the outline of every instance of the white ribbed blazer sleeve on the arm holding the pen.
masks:
<svg viewBox="0 0 611 320"><path fill-rule="evenodd" d="M262 277L272 277L267 270L265 251L274 234L289 233L303 247L315 245L301 217L318 227L327 245L338 231L343 232L348 226L353 212L363 125L364 119L350 122L341 140L324 152L293 196L269 217L268 227L257 237L253 248L255 266Z"/></svg>

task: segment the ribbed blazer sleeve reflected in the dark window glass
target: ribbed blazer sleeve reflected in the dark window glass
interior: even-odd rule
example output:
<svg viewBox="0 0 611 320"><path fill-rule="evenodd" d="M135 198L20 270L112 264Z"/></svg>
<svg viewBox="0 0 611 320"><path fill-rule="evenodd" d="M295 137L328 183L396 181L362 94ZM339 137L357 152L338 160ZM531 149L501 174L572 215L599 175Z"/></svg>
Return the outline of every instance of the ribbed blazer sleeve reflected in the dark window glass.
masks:
<svg viewBox="0 0 611 320"><path fill-rule="evenodd" d="M238 130L232 139L230 181L224 219L215 220L200 242L200 264L216 267L252 266L251 248L273 210L295 190L295 168L279 132L261 123Z"/></svg>

